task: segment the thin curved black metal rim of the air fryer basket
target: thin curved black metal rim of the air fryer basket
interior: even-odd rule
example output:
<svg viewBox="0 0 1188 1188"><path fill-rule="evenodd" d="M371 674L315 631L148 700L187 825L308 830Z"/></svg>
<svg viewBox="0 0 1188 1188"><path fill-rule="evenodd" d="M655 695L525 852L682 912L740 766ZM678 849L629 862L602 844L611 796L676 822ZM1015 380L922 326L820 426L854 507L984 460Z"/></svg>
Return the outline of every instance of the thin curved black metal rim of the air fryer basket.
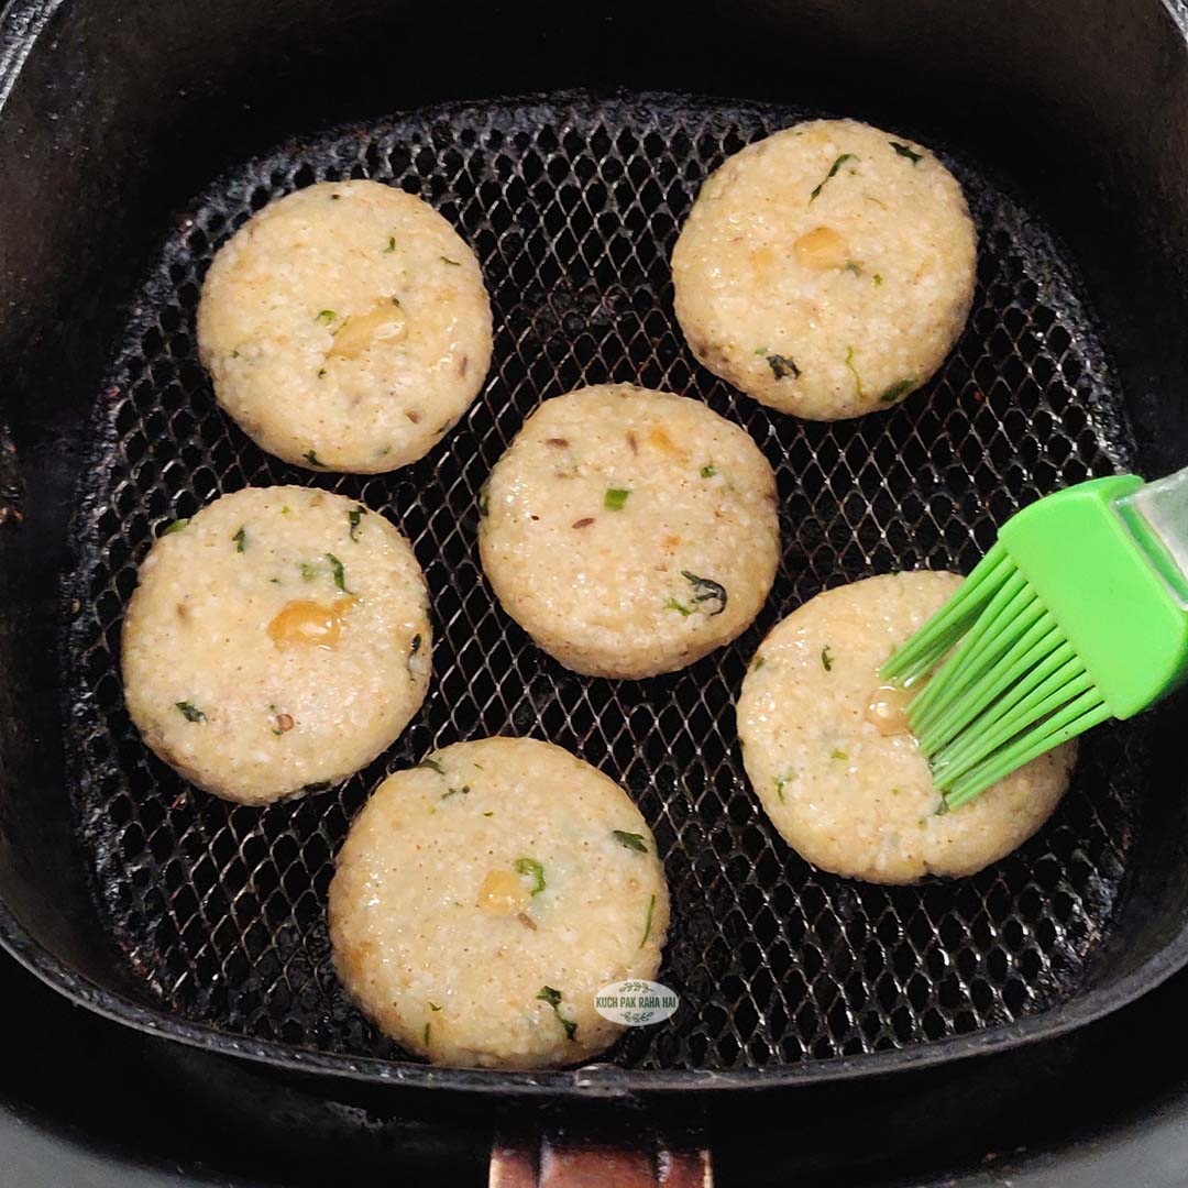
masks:
<svg viewBox="0 0 1188 1188"><path fill-rule="evenodd" d="M0 13L0 106L8 86L36 44L48 19L63 0L12 0ZM1170 0L1161 4L1176 17L1184 32L1182 14ZM1016 1023L1000 1024L969 1035L953 1036L927 1044L877 1051L859 1057L804 1060L767 1069L738 1070L637 1070L593 1066L561 1072L508 1073L479 1069L438 1069L423 1064L393 1066L373 1057L348 1057L290 1045L252 1041L222 1034L208 1025L191 1023L164 1010L146 1007L131 997L105 988L43 946L0 901L0 946L46 985L71 1001L146 1034L159 1034L168 1023L171 1038L210 1051L240 1056L259 1063L305 1073L380 1081L392 1085L449 1087L468 1092L513 1092L522 1094L618 1095L624 1093L674 1092L678 1089L718 1091L723 1088L776 1088L809 1082L842 1081L857 1076L879 1076L912 1068L977 1055L1004 1051L1025 1043L1055 1037L1083 1026L1133 1001L1188 963L1188 924L1181 927L1161 950L1129 974L1106 987L1087 991L1070 1001Z"/></svg>

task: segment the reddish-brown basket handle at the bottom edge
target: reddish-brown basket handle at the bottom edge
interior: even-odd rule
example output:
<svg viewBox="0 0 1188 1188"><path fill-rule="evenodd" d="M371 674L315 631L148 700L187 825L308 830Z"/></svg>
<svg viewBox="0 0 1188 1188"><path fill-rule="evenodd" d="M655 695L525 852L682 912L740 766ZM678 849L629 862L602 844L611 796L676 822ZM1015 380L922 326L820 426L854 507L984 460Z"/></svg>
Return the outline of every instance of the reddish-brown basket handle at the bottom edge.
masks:
<svg viewBox="0 0 1188 1188"><path fill-rule="evenodd" d="M497 1130L488 1188L713 1188L700 1137L620 1121L614 1137L573 1125Z"/></svg>

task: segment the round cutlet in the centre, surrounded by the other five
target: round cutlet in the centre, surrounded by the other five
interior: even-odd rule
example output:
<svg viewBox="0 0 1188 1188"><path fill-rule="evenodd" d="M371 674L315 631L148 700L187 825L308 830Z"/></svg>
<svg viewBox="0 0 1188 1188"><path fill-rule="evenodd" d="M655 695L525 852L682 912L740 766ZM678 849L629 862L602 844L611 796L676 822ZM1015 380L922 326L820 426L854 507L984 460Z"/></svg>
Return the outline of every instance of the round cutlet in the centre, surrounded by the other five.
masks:
<svg viewBox="0 0 1188 1188"><path fill-rule="evenodd" d="M546 400L482 497L507 613L577 672L684 668L754 619L779 557L776 480L738 425L628 385Z"/></svg>

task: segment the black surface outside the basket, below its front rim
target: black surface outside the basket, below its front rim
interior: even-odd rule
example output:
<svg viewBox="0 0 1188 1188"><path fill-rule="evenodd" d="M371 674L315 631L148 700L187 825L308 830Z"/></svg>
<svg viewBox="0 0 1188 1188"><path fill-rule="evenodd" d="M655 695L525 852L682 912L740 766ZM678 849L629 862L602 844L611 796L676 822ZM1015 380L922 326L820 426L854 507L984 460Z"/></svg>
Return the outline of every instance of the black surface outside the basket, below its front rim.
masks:
<svg viewBox="0 0 1188 1188"><path fill-rule="evenodd" d="M1073 1035L893 1086L876 1078L795 1099L718 1097L704 1114L714 1182L1182 1188L1188 1038L1167 1019L1186 993L1181 973ZM497 1098L297 1078L131 1032L75 1009L2 954L0 999L20 1020L0 1062L2 1188L324 1188L393 1173L402 1188L478 1188L493 1126L516 1117ZM593 1105L607 1104L543 1111L533 1101L519 1117L588 1125L605 1118ZM680 1124L697 1113L690 1105L652 1099L650 1112Z"/></svg>

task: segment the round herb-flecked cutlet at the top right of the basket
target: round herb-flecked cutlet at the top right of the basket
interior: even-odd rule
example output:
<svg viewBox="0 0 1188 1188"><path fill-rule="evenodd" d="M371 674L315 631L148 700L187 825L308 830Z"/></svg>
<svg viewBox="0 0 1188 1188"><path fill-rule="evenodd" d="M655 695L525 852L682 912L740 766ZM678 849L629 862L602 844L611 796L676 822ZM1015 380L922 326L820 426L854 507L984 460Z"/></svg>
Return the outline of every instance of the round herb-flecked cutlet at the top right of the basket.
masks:
<svg viewBox="0 0 1188 1188"><path fill-rule="evenodd" d="M672 253L676 315L697 359L763 404L857 417L941 365L975 255L961 187L928 148L814 120L706 181Z"/></svg>

